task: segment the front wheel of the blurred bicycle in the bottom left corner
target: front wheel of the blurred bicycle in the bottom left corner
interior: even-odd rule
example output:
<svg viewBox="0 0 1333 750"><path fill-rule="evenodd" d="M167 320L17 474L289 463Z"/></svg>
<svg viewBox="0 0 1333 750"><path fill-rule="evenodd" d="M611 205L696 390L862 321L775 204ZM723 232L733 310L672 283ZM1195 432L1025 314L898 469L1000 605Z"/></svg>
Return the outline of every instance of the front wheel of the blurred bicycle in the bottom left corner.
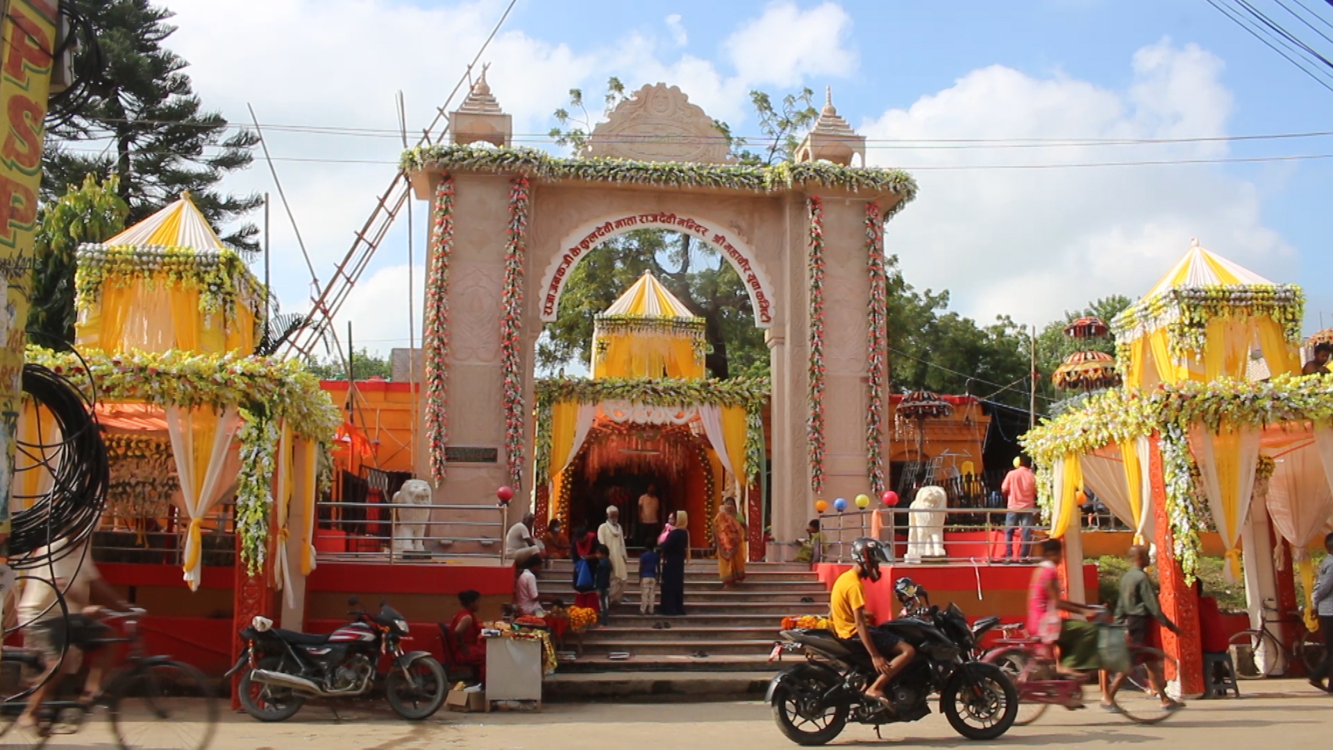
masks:
<svg viewBox="0 0 1333 750"><path fill-rule="evenodd" d="M140 663L107 689L111 730L123 750L204 750L217 729L217 698L199 670Z"/></svg>

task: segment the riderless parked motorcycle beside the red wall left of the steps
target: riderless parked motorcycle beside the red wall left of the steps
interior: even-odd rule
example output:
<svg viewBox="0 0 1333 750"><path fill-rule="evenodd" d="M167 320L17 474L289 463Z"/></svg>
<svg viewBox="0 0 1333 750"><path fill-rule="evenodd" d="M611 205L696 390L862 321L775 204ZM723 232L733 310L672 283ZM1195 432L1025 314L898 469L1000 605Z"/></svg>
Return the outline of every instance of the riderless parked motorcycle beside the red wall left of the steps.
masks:
<svg viewBox="0 0 1333 750"><path fill-rule="evenodd" d="M289 719L311 698L355 698L384 686L384 698L400 717L429 718L444 703L449 685L429 651L404 651L408 622L388 605L379 614L356 607L348 625L317 635L269 627L255 618L240 631L245 653L228 673L241 670L240 702L261 722ZM387 669L381 674L380 665Z"/></svg>

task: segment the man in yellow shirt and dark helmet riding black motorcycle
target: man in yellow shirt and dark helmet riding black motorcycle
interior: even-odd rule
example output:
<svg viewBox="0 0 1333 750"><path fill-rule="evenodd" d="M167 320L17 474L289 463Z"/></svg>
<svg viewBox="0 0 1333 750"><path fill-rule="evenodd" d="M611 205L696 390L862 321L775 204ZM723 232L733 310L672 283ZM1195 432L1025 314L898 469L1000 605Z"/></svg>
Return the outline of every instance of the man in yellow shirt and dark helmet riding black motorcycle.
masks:
<svg viewBox="0 0 1333 750"><path fill-rule="evenodd" d="M880 563L889 562L884 544L869 536L852 542L852 562L853 567L833 583L829 599L833 631L853 650L860 646L870 655L878 677L866 689L865 697L892 709L892 701L884 694L884 689L908 666L916 649L888 630L872 627L865 611L862 582L869 579L873 583L880 579Z"/></svg>

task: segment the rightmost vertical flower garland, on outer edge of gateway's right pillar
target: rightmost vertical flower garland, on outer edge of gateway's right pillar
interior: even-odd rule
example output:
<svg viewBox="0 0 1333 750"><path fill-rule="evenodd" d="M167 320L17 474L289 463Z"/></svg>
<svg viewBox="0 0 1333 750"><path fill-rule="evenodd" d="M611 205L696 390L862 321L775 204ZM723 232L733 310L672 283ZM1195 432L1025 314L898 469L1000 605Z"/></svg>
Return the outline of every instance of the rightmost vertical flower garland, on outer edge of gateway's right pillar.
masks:
<svg viewBox="0 0 1333 750"><path fill-rule="evenodd" d="M884 276L884 224L880 204L865 204L865 271L870 279L866 310L869 371L865 379L865 462L870 492L884 491L884 379L888 370L888 282Z"/></svg>

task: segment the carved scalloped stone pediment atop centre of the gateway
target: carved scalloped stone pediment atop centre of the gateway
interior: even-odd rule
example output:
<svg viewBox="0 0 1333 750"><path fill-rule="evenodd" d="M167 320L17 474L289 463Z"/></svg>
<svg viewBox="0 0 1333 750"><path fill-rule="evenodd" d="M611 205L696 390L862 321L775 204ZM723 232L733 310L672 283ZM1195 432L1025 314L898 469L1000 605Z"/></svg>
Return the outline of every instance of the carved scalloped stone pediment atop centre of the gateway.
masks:
<svg viewBox="0 0 1333 750"><path fill-rule="evenodd" d="M736 163L713 119L690 104L680 88L664 83L645 85L621 101L605 123L593 128L580 156Z"/></svg>

